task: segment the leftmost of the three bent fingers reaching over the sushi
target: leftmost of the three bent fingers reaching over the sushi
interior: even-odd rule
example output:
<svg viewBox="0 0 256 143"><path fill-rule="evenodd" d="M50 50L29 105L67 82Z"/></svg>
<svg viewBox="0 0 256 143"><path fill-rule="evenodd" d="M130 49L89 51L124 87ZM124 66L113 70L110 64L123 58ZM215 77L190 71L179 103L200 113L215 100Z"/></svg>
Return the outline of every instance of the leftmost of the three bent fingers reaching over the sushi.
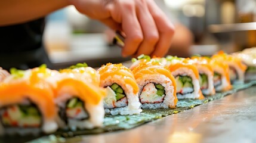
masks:
<svg viewBox="0 0 256 143"><path fill-rule="evenodd" d="M122 1L122 29L125 32L125 46L122 55L134 55L143 41L143 33L137 19L134 1Z"/></svg>

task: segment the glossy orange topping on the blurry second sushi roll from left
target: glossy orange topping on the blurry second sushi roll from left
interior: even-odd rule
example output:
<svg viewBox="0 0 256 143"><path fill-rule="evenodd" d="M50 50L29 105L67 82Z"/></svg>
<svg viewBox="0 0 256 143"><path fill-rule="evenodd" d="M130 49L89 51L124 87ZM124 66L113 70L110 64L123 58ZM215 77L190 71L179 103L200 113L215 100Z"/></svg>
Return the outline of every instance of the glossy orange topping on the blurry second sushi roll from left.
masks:
<svg viewBox="0 0 256 143"><path fill-rule="evenodd" d="M104 89L100 88L100 78L96 70L91 67L79 67L76 69L61 70L61 74L67 74L57 82L56 95L63 88L72 87L76 96L85 102L98 104L106 95Z"/></svg>

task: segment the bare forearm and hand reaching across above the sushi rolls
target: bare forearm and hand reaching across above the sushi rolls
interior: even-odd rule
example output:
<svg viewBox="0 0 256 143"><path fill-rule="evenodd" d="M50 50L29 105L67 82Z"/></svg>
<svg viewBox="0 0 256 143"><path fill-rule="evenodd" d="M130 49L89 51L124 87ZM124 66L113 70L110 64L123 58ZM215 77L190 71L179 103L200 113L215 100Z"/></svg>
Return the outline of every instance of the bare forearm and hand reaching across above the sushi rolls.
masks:
<svg viewBox="0 0 256 143"><path fill-rule="evenodd" d="M0 25L20 23L66 5L125 33L122 55L162 57L171 45L174 27L153 0L2 0Z"/></svg>

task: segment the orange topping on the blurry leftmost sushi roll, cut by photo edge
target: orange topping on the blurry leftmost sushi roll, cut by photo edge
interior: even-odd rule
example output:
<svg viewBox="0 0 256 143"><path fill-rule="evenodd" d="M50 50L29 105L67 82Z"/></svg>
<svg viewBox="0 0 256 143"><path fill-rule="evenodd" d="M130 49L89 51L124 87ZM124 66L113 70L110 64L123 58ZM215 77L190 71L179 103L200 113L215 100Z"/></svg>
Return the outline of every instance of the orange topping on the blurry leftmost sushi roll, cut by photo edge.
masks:
<svg viewBox="0 0 256 143"><path fill-rule="evenodd" d="M55 105L53 102L53 91L48 83L41 82L36 85L29 83L13 82L0 85L0 102L2 105L17 104L28 98L38 105L45 119L54 119Z"/></svg>

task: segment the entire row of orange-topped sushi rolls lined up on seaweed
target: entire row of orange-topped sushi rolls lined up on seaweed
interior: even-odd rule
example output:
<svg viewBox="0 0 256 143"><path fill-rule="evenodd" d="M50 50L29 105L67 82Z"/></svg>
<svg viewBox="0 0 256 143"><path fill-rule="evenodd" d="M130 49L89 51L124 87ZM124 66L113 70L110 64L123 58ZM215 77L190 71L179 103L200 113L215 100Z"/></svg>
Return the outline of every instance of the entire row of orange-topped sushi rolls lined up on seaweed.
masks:
<svg viewBox="0 0 256 143"><path fill-rule="evenodd" d="M108 63L51 70L0 69L0 134L53 133L103 126L104 114L175 108L182 99L227 91L243 83L246 66L223 52L209 57L141 55L131 67ZM141 109L142 108L142 109Z"/></svg>

